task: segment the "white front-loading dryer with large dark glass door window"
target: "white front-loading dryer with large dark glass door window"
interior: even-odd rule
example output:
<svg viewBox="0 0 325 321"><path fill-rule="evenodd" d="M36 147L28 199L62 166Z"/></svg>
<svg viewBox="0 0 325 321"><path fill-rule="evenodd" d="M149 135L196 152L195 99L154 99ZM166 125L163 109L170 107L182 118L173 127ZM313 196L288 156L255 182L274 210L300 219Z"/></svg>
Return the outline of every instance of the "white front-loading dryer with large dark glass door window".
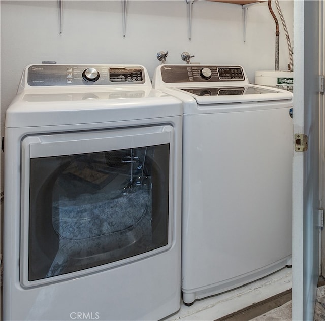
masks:
<svg viewBox="0 0 325 321"><path fill-rule="evenodd" d="M5 123L3 320L177 311L181 150L181 102L143 66L27 66Z"/></svg>

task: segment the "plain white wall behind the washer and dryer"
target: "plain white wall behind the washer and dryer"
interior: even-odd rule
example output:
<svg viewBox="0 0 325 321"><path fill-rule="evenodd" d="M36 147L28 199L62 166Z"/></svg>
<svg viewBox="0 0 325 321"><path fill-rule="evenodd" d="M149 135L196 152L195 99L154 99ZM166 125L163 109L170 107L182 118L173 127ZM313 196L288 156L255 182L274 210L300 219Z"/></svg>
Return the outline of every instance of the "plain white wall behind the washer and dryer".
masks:
<svg viewBox="0 0 325 321"><path fill-rule="evenodd" d="M293 0L280 0L280 6L292 39ZM152 77L157 52L168 50L167 63L184 63L181 53L188 51L192 62L241 64L251 82L255 70L274 69L275 23L267 2L249 7L246 43L240 5L194 2L191 41L185 0L130 0L127 12L123 38L121 1L64 0L59 35L56 0L1 1L1 136L21 72L31 63L143 64ZM280 69L288 63L280 25Z"/></svg>

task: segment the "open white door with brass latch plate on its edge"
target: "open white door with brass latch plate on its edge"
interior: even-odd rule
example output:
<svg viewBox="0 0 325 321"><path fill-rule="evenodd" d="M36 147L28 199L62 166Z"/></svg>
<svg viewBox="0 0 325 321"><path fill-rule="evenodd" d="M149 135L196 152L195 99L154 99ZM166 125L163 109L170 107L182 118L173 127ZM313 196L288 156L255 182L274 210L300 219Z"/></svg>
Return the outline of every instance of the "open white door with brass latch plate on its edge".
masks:
<svg viewBox="0 0 325 321"><path fill-rule="evenodd" d="M323 1L294 2L294 132L308 150L294 152L293 320L313 320L319 276L320 24Z"/></svg>

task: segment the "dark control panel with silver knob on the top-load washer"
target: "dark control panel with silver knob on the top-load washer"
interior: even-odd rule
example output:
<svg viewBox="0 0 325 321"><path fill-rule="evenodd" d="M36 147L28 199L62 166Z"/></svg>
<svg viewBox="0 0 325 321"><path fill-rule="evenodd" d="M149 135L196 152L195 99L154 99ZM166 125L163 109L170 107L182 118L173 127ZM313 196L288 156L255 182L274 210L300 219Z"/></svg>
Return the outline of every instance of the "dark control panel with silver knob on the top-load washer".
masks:
<svg viewBox="0 0 325 321"><path fill-rule="evenodd" d="M161 78L165 83L244 81L241 66L164 65Z"/></svg>

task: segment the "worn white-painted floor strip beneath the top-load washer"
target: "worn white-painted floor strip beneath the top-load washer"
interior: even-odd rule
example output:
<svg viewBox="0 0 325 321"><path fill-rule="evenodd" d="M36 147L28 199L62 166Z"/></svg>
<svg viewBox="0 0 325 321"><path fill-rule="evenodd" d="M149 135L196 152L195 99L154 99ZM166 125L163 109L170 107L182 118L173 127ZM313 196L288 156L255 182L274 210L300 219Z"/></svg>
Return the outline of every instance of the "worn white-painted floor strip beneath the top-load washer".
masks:
<svg viewBox="0 0 325 321"><path fill-rule="evenodd" d="M233 312L249 307L254 303L290 291L291 288L292 269L284 268L244 287L206 299L197 300L191 306L185 306L182 303L180 310L165 318L164 321L215 321ZM225 318L223 319L225 320ZM228 320L228 318L226 319Z"/></svg>

